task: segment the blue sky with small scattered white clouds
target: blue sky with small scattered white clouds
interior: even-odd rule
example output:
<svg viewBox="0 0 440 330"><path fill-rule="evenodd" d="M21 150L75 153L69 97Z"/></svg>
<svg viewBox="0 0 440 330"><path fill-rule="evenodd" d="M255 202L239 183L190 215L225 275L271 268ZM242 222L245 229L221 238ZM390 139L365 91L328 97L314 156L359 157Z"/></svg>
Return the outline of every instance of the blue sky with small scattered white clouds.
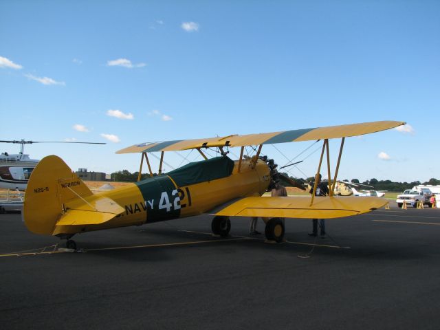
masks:
<svg viewBox="0 0 440 330"><path fill-rule="evenodd" d="M138 170L115 155L138 142L401 120L347 139L340 179L439 179L439 17L439 1L3 0L0 140L108 142L25 151L111 173ZM263 154L282 166L311 143Z"/></svg>

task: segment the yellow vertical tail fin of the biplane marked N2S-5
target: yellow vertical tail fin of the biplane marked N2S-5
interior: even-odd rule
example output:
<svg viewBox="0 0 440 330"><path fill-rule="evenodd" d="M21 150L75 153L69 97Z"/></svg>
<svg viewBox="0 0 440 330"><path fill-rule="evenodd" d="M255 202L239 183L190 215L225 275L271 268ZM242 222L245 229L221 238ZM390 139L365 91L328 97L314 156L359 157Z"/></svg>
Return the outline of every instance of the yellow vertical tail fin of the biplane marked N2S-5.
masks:
<svg viewBox="0 0 440 330"><path fill-rule="evenodd" d="M58 156L41 159L25 191L23 219L31 232L52 234L63 215L63 204L93 195L85 183Z"/></svg>

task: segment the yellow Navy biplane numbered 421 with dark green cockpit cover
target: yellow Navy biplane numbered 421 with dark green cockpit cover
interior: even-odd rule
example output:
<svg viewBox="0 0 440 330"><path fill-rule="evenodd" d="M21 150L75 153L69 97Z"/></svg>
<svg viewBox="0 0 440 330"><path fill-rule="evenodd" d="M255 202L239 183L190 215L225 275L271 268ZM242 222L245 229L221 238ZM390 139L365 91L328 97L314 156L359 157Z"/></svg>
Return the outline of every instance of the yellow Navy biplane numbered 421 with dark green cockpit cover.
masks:
<svg viewBox="0 0 440 330"><path fill-rule="evenodd" d="M197 140L177 140L136 144L117 153L142 153L151 175L114 190L94 194L83 181L55 155L39 162L30 177L25 192L23 218L28 230L66 239L67 248L76 248L74 234L143 225L198 214L213 214L214 234L227 236L229 217L263 217L267 239L281 241L284 236L283 218L330 219L370 212L385 206L377 197L338 197L333 190L345 137L363 135L405 124L381 121L340 126L298 129L275 133L228 135ZM336 170L331 176L329 139L341 138ZM329 197L261 197L278 175L276 169L260 157L265 144L323 140L317 173L327 150ZM238 160L230 159L225 147L241 146ZM258 146L256 155L243 157L245 146ZM208 159L204 148L218 148L221 157ZM196 149L205 160L192 162L162 174L164 153ZM153 176L148 153L161 153L158 175ZM317 180L315 180L317 182ZM314 186L316 190L316 184Z"/></svg>

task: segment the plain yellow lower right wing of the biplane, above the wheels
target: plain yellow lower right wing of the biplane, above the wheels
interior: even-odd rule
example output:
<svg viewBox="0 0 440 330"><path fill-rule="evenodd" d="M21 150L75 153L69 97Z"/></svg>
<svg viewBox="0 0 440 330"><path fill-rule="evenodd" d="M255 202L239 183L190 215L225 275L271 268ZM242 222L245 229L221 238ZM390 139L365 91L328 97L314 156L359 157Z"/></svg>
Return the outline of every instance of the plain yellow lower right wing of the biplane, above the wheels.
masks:
<svg viewBox="0 0 440 330"><path fill-rule="evenodd" d="M378 197L246 197L216 215L230 217L285 217L331 219L349 217L382 208L388 203Z"/></svg>

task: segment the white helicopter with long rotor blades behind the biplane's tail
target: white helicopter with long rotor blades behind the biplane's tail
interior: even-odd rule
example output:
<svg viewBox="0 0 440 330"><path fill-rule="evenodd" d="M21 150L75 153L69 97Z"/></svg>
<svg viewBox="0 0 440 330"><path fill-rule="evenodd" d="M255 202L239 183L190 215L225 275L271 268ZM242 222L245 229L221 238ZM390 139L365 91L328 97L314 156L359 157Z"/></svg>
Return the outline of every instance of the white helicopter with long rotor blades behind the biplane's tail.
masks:
<svg viewBox="0 0 440 330"><path fill-rule="evenodd" d="M20 153L10 154L7 152L0 155L0 188L25 190L28 186L29 177L39 159L32 159L24 153L25 144L32 143L83 143L105 144L102 142L67 142L67 141L25 141L25 140L0 140L3 143L21 144Z"/></svg>

